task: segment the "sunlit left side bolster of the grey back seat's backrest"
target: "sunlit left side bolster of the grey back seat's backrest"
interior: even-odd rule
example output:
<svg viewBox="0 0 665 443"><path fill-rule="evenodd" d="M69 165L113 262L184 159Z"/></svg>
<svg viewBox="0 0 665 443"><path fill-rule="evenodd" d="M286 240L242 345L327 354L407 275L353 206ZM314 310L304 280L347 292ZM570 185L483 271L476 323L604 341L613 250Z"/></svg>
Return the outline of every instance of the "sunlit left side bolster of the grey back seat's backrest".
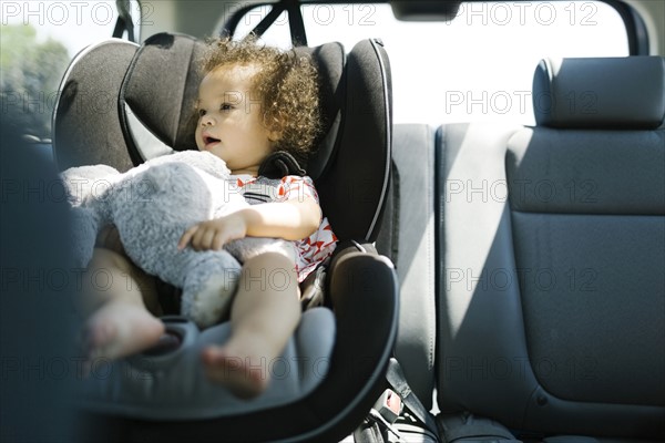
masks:
<svg viewBox="0 0 665 443"><path fill-rule="evenodd" d="M437 148L438 403L523 425L538 382L515 284L504 156L519 126L459 124Z"/></svg>

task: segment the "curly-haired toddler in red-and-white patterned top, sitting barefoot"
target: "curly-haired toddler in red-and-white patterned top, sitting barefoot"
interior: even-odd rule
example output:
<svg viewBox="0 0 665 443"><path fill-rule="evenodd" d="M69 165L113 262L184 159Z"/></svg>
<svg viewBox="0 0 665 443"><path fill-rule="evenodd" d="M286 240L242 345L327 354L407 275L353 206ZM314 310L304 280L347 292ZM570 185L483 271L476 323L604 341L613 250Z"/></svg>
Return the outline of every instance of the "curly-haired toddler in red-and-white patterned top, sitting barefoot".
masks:
<svg viewBox="0 0 665 443"><path fill-rule="evenodd" d="M317 74L307 58L263 47L252 38L212 42L203 70L196 145L226 162L252 205L202 220L174 247L218 250L245 237L287 240L282 241L286 248L268 248L245 259L231 308L232 336L202 354L211 380L241 398L253 398L266 389L267 368L298 323L298 282L332 253L337 240L323 217L311 178L259 174L276 153L291 164L307 158L319 125ZM162 313L155 279L123 254L113 230L105 235L88 272L104 269L110 285L104 290L91 285L86 288L91 296L83 300L89 360L141 352L164 333L155 317Z"/></svg>

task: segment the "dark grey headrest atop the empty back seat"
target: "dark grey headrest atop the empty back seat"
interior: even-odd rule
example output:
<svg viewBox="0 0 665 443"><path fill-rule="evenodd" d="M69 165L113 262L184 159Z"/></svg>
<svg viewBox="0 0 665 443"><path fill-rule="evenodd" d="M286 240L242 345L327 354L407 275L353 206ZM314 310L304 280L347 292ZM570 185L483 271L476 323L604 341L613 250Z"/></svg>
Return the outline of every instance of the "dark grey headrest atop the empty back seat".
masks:
<svg viewBox="0 0 665 443"><path fill-rule="evenodd" d="M654 130L665 116L665 59L542 60L533 110L543 126Z"/></svg>

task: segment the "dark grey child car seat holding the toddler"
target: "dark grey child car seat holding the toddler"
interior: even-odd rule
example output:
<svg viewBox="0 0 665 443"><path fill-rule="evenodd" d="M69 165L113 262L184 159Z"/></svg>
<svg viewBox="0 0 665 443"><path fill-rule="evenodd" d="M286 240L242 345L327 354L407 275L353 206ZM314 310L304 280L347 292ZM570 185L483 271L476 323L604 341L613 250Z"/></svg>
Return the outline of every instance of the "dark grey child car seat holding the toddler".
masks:
<svg viewBox="0 0 665 443"><path fill-rule="evenodd" d="M203 45L187 35L156 34L141 47L112 40L79 54L55 107L59 166L104 163L123 171L195 148L194 66ZM239 402L200 377L200 347L222 340L228 324L200 333L183 319L165 319L183 346L114 363L113 374L132 377L93 381L85 389L85 439L330 441L348 434L379 395L397 330L395 271L370 245L390 174L388 59L374 40L349 54L338 43L296 51L313 55L321 78L325 132L307 172L340 244L315 281L334 315L328 308L306 311L283 358L319 364L303 364L311 370L301 373L291 365L289 377L274 380L272 393ZM183 374L197 382L183 388Z"/></svg>

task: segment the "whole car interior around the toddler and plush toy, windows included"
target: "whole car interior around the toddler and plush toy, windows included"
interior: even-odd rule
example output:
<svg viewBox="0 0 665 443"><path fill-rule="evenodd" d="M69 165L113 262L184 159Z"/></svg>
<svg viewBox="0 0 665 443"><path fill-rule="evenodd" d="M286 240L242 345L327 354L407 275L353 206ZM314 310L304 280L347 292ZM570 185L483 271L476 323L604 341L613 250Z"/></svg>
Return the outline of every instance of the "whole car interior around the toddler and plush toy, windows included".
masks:
<svg viewBox="0 0 665 443"><path fill-rule="evenodd" d="M1 442L665 441L665 0L1 12ZM250 33L317 68L339 237L287 363L238 400L198 358L228 322L168 312L84 374L59 174L196 150L206 40Z"/></svg>

